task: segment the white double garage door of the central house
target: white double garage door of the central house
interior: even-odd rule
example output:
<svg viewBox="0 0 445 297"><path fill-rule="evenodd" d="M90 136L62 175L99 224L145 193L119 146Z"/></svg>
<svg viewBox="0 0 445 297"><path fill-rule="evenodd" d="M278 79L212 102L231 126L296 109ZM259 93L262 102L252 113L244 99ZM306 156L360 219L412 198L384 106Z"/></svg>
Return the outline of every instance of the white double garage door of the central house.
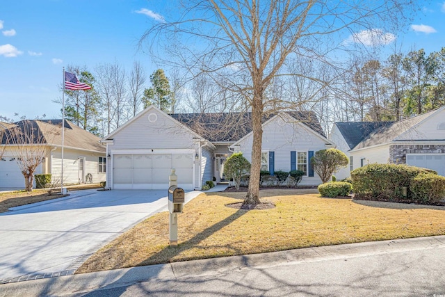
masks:
<svg viewBox="0 0 445 297"><path fill-rule="evenodd" d="M167 189L171 168L179 187L193 189L192 154L115 154L113 188Z"/></svg>

